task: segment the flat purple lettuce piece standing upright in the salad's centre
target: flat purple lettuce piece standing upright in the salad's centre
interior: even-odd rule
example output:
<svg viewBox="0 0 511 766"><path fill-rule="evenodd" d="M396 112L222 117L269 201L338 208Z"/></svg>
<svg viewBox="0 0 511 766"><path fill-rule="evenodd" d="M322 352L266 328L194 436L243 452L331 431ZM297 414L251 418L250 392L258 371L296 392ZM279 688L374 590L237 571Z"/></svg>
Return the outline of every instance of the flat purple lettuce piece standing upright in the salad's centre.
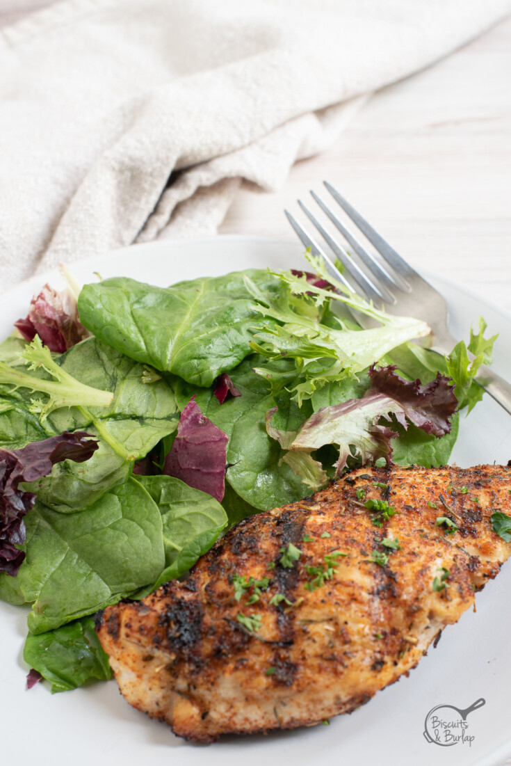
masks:
<svg viewBox="0 0 511 766"><path fill-rule="evenodd" d="M181 412L163 473L202 489L219 502L225 492L227 434L208 420L193 396Z"/></svg>

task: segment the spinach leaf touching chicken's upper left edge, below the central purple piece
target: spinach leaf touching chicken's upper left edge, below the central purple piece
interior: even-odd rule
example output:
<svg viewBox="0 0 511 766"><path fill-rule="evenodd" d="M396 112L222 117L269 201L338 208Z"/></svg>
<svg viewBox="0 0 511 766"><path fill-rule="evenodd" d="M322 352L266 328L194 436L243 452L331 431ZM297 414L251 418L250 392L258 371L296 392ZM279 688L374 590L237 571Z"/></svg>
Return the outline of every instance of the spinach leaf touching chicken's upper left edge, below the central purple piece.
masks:
<svg viewBox="0 0 511 766"><path fill-rule="evenodd" d="M138 481L161 512L165 564L156 588L183 575L209 551L227 516L220 502L174 476L138 476Z"/></svg>

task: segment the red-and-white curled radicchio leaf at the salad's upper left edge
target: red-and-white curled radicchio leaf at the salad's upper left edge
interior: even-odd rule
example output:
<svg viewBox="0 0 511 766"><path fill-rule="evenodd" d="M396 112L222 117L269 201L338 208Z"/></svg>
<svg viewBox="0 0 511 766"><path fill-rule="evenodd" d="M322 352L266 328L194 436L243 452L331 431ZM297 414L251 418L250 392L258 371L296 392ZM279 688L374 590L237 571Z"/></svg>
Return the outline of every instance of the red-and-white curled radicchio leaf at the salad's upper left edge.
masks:
<svg viewBox="0 0 511 766"><path fill-rule="evenodd" d="M49 285L44 285L41 293L32 298L28 316L18 319L15 327L25 340L33 341L38 335L57 354L63 354L90 335L78 318L75 298L68 290L57 293Z"/></svg>

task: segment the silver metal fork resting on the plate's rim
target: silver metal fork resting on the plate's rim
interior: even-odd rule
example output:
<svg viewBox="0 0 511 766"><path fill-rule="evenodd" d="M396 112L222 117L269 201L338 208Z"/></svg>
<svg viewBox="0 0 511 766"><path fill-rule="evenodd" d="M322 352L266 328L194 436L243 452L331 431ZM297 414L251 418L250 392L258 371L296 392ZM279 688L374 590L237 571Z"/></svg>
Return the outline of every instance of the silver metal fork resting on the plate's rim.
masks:
<svg viewBox="0 0 511 766"><path fill-rule="evenodd" d="M339 191L327 181L324 185L334 200L343 208L348 218L373 244L379 257L366 250L352 232L340 221L340 218L325 202L311 191L312 198L321 210L330 218L335 228L343 235L344 240L353 251L347 250L334 239L327 229L317 220L316 216L298 200L301 210L308 217L314 228L339 258L349 275L348 281L334 264L334 260L314 241L310 234L296 221L287 210L285 214L305 247L311 247L314 255L320 255L330 273L340 280L348 290L355 291L368 300L373 300L377 306L384 306L386 311L402 316L413 316L427 322L433 332L430 348L440 354L448 354L457 343L448 329L448 306L443 296L424 280L406 261L395 252L393 247L358 213L350 203L340 195ZM357 320L366 323L366 317L357 316ZM470 355L471 358L474 358ZM475 377L477 383L495 399L507 413L511 414L511 385L486 365L481 365Z"/></svg>

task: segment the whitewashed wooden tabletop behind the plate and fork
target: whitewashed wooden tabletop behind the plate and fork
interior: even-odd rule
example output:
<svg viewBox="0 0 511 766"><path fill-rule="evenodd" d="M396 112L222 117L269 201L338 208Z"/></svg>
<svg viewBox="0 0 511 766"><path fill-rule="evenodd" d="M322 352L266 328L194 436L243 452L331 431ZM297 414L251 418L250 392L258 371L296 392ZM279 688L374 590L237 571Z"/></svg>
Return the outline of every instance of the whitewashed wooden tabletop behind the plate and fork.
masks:
<svg viewBox="0 0 511 766"><path fill-rule="evenodd" d="M0 0L0 26L45 0ZM220 232L291 236L282 208L323 178L413 265L511 312L511 19L376 93L283 188L246 185ZM475 318L477 319L477 318Z"/></svg>

